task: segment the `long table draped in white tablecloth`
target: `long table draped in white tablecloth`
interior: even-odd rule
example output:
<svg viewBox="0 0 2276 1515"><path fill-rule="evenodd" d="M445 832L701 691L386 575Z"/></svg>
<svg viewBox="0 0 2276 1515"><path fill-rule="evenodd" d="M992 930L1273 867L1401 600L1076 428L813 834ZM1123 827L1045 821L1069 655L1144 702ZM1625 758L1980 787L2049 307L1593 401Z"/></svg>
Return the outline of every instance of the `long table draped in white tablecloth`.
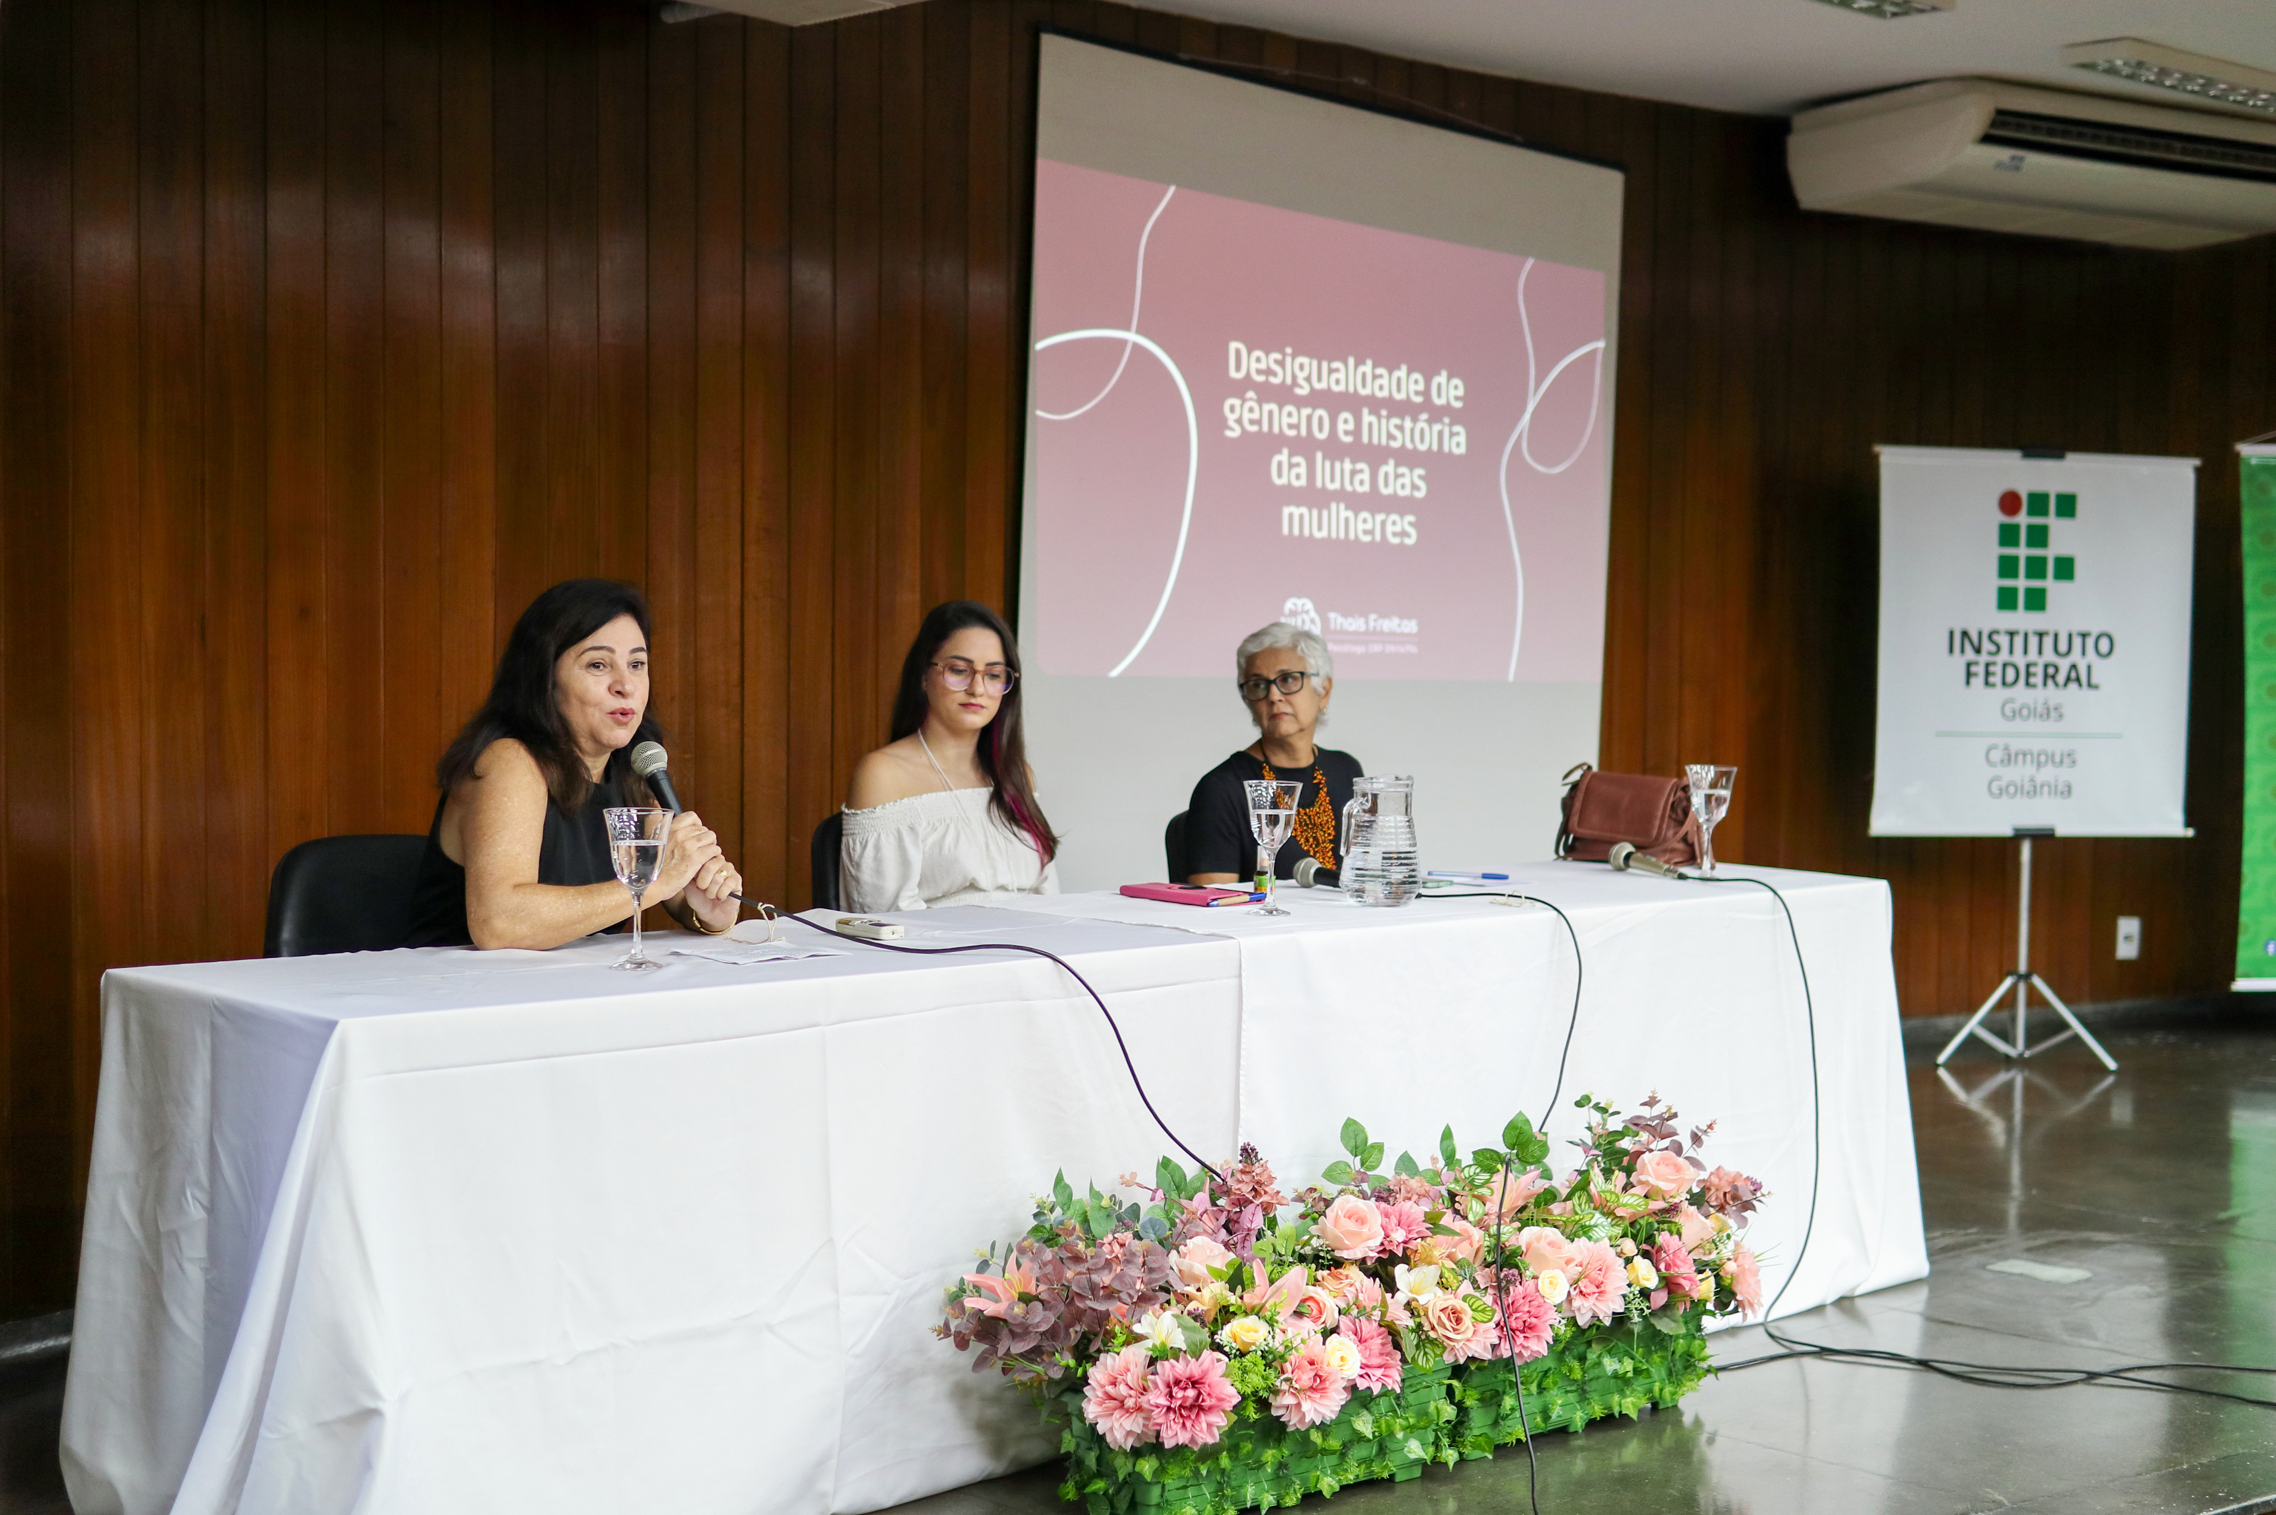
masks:
<svg viewBox="0 0 2276 1515"><path fill-rule="evenodd" d="M1163 1119L1302 1183L1577 1092L1718 1119L1780 1313L1925 1274L1889 892L1541 864L1541 905L1083 894L904 919L1111 1005ZM751 935L751 924L737 928ZM790 926L797 935L801 928ZM810 933L808 933L810 935ZM819 937L815 937L819 942ZM669 937L671 946L701 946ZM621 939L121 969L64 1406L80 1515L876 1510L1052 1454L931 1335L981 1242L1168 1149L1015 953L608 971ZM1570 1046L1566 1046L1570 1042ZM1559 1065L1561 1087L1559 1087ZM1825 1119L1814 1137L1814 1110Z"/></svg>

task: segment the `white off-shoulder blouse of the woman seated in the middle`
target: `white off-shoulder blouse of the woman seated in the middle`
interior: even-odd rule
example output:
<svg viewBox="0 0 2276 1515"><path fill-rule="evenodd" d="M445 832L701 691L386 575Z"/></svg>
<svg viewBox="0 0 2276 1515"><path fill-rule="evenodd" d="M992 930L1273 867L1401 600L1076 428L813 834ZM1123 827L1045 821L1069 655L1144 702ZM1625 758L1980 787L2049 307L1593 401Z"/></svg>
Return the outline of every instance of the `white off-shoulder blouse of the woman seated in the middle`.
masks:
<svg viewBox="0 0 2276 1515"><path fill-rule="evenodd" d="M990 789L935 789L847 810L838 903L876 914L1058 894L1058 864L988 812Z"/></svg>

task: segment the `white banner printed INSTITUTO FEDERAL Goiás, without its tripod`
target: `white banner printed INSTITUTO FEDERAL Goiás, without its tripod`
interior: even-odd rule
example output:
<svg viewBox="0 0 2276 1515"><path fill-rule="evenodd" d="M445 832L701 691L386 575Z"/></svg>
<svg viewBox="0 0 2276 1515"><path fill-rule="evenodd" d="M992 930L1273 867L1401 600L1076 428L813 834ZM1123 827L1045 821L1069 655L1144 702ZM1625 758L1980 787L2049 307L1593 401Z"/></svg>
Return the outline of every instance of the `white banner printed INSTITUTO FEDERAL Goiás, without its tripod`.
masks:
<svg viewBox="0 0 2276 1515"><path fill-rule="evenodd" d="M2194 530L2194 457L1880 448L1871 833L2190 835Z"/></svg>

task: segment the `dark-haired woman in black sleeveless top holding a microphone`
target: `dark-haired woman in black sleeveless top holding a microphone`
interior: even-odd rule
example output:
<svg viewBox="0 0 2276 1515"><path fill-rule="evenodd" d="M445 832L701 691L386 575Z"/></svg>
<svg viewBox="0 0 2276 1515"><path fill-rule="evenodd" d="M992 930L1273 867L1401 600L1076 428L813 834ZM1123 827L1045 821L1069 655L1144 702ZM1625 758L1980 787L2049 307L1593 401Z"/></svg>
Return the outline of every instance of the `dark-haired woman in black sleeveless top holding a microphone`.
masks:
<svg viewBox="0 0 2276 1515"><path fill-rule="evenodd" d="M653 805L628 753L649 714L649 603L630 585L571 578L514 621L489 698L435 764L442 798L412 889L410 946L562 946L624 926L633 896L610 864L612 805ZM692 810L646 899L717 935L742 876Z"/></svg>

